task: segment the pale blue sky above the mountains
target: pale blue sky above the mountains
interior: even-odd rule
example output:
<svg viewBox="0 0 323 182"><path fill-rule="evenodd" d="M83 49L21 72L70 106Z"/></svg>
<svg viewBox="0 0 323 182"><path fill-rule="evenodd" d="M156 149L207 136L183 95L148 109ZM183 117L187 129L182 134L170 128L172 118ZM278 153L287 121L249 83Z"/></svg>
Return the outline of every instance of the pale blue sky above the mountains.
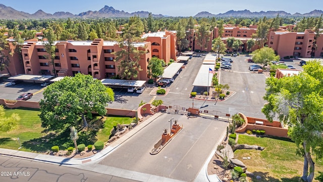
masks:
<svg viewBox="0 0 323 182"><path fill-rule="evenodd" d="M245 9L251 12L282 10L291 14L304 14L323 9L323 0L0 0L0 4L30 14L38 10L50 14L59 11L79 14L89 10L98 11L105 5L129 13L148 11L169 16L194 16L201 11L219 14Z"/></svg>

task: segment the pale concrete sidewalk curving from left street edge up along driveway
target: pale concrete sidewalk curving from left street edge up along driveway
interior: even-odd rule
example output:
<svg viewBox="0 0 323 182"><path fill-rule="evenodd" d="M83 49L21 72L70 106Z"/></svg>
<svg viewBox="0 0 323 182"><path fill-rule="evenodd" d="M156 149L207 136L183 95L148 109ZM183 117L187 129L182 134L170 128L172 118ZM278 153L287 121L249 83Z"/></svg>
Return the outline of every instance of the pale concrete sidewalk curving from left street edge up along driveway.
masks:
<svg viewBox="0 0 323 182"><path fill-rule="evenodd" d="M138 126L131 129L129 132L127 132L125 135L123 135L120 139L113 142L111 145L104 148L102 151L96 153L95 155L92 155L87 158L64 158L64 157L58 157L58 156L51 156L51 155L45 155L45 154L37 154L32 152L25 152L25 151L17 151L17 150L11 150L11 149L2 149L0 148L0 155L4 156L10 156L10 157L18 157L18 158L25 158L30 159L34 161L40 161L45 163L54 163L54 164L60 164L60 165L80 165L87 162L95 161L103 156L109 155L111 151L116 149L118 146L123 144L125 141L127 141L131 136L136 134L138 131L140 131L142 128L144 128L146 125L148 125L150 122L155 120L157 117L159 117L162 113L156 113L147 120L140 123Z"/></svg>

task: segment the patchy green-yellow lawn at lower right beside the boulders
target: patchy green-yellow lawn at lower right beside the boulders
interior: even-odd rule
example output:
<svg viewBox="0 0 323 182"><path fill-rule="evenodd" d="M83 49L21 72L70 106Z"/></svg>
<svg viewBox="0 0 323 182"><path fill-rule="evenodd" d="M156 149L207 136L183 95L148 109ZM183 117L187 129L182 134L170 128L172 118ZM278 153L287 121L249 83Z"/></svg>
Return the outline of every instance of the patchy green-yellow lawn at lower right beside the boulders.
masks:
<svg viewBox="0 0 323 182"><path fill-rule="evenodd" d="M236 150L235 157L241 160L248 171L255 176L260 175L261 180L252 181L295 181L298 182L303 171L303 158L295 154L296 145L285 138L260 138L239 134L238 144L258 145L265 149L259 150ZM242 157L251 157L244 160ZM315 176L317 171L323 170L322 161L315 162Z"/></svg>

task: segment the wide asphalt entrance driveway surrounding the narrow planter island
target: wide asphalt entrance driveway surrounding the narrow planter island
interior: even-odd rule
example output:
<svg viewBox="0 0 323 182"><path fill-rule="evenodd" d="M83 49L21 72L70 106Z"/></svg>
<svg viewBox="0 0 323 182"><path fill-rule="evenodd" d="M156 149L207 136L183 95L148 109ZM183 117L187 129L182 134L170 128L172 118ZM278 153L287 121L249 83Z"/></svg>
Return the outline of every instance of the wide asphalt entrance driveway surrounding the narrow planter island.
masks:
<svg viewBox="0 0 323 182"><path fill-rule="evenodd" d="M170 118L183 129L156 155L149 152L161 139ZM99 162L126 170L193 181L212 149L226 131L228 123L184 115L163 114Z"/></svg>

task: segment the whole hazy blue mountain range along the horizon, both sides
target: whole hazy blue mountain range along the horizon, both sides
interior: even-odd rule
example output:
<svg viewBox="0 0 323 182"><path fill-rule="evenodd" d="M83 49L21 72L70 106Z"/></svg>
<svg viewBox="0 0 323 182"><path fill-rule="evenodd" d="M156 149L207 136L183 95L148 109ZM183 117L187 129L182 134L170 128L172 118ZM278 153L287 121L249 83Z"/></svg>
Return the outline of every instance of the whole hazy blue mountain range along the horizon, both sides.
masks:
<svg viewBox="0 0 323 182"><path fill-rule="evenodd" d="M276 17L279 14L280 17L310 17L310 16L320 16L323 14L321 10L314 10L309 13L300 14L290 14L285 11L267 11L267 12L250 12L249 10L234 11L230 10L226 13L220 13L217 15L211 14L209 12L200 12L194 17ZM132 17L134 15L140 17L148 17L149 12L137 11L133 13L128 13L125 11L116 10L113 7L104 6L99 11L87 11L74 15L69 12L56 12L54 14L45 13L42 10L38 10L33 14L25 13L22 11L17 11L11 7L7 7L0 4L0 19L50 19L50 18L119 18L119 17ZM155 15L153 17L168 17L167 15Z"/></svg>

